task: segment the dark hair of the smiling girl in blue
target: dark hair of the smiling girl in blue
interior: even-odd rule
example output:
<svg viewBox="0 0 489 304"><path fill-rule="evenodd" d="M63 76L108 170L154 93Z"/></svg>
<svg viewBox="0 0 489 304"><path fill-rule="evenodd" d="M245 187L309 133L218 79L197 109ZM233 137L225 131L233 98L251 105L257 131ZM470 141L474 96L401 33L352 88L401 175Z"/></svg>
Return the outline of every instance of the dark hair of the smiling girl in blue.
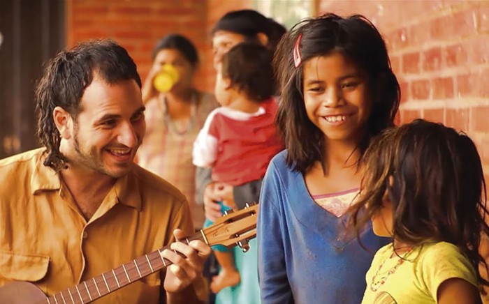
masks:
<svg viewBox="0 0 489 304"><path fill-rule="evenodd" d="M302 63L294 66L293 50L299 36ZM302 89L305 61L340 52L363 70L372 91L372 111L358 144L361 155L370 138L393 126L400 102L400 87L391 70L386 44L377 28L361 15L340 17L328 13L295 24L279 43L274 66L281 102L277 112L278 130L288 150L286 162L302 174L314 162L323 162L324 135L309 121ZM326 168L326 164L323 164Z"/></svg>

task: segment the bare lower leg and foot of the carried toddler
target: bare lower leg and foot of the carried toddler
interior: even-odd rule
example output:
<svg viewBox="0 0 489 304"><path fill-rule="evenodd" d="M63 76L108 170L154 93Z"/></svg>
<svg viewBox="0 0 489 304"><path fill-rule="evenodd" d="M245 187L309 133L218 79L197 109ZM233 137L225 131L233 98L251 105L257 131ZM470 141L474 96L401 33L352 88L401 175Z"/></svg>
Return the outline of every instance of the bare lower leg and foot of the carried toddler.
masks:
<svg viewBox="0 0 489 304"><path fill-rule="evenodd" d="M210 289L214 294L217 294L221 289L239 284L241 277L238 270L236 270L232 251L214 250L214 256L219 261L219 265L221 265L221 271L219 275L212 278Z"/></svg>

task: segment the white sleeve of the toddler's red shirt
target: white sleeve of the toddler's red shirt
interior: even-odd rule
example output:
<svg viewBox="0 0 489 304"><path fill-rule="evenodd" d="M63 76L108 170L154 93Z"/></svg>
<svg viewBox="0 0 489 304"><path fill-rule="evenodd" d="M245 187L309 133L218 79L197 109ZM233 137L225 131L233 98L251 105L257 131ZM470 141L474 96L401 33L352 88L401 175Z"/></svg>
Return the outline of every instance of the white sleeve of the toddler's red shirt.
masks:
<svg viewBox="0 0 489 304"><path fill-rule="evenodd" d="M212 112L205 120L204 126L198 132L192 150L192 160L197 167L212 167L217 158L217 138L210 134L211 128L214 129L215 112Z"/></svg>

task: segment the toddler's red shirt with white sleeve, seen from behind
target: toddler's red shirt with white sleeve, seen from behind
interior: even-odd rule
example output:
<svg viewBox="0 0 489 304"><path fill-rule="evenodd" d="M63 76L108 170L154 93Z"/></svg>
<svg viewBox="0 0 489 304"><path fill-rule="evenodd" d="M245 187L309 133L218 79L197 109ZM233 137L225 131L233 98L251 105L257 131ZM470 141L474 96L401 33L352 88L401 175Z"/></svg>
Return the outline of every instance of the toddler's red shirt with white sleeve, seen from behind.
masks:
<svg viewBox="0 0 489 304"><path fill-rule="evenodd" d="M242 185L265 176L268 162L284 149L276 132L274 99L254 114L219 107L194 143L194 165L212 167L212 181Z"/></svg>

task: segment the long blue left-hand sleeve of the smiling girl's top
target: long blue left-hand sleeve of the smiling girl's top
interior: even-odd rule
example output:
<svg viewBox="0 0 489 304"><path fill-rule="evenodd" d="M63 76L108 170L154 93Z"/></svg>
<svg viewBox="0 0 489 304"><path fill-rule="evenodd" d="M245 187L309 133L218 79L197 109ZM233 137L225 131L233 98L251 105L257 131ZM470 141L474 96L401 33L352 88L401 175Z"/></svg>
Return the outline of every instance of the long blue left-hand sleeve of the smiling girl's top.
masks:
<svg viewBox="0 0 489 304"><path fill-rule="evenodd" d="M258 278L263 303L294 303L286 273L286 261L282 239L283 204L278 174L270 163L261 188L260 208L256 228L258 241Z"/></svg>

